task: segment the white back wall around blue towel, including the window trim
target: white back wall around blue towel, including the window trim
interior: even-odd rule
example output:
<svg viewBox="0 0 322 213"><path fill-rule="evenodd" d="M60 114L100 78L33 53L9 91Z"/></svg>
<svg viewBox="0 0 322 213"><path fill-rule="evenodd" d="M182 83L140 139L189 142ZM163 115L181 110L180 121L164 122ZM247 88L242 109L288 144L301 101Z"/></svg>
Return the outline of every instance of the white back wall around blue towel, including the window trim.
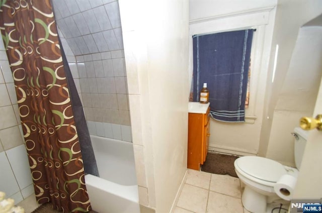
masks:
<svg viewBox="0 0 322 213"><path fill-rule="evenodd" d="M211 119L210 150L237 155L258 154L275 7L276 1L254 0L241 3L240 1L190 0L190 37L194 34L257 29L254 32L252 47L254 52L251 56L251 92L250 108L246 110L247 123L232 124ZM192 61L192 48L190 48L190 77Z"/></svg>

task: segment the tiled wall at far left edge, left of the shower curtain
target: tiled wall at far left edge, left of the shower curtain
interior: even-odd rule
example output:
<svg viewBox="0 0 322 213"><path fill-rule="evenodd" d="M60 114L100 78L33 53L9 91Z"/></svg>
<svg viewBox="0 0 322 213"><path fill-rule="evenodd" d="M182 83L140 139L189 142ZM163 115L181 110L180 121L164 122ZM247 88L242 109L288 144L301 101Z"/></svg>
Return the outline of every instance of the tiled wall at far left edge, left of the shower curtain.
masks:
<svg viewBox="0 0 322 213"><path fill-rule="evenodd" d="M4 191L17 204L34 193L34 187L20 125L14 80L2 41L0 66L0 191Z"/></svg>

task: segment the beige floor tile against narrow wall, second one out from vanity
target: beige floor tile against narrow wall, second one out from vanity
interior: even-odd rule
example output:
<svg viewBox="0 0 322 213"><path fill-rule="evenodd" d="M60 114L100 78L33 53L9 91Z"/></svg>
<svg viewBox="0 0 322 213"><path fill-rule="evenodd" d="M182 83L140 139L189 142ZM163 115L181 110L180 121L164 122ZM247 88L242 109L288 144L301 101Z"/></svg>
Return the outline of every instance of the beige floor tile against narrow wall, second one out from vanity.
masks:
<svg viewBox="0 0 322 213"><path fill-rule="evenodd" d="M208 190L185 184L178 199L177 206L197 212L206 212Z"/></svg>

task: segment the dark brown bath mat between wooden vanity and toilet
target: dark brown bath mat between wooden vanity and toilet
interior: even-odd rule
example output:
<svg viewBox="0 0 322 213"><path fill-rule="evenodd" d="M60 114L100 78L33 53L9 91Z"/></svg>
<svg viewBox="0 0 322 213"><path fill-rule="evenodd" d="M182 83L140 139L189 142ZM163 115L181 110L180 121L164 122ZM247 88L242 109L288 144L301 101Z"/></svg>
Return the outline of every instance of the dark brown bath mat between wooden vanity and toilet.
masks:
<svg viewBox="0 0 322 213"><path fill-rule="evenodd" d="M232 177L237 177L233 166L233 162L237 158L237 156L233 155L208 152L206 161L201 166L201 171L214 174L228 174Z"/></svg>

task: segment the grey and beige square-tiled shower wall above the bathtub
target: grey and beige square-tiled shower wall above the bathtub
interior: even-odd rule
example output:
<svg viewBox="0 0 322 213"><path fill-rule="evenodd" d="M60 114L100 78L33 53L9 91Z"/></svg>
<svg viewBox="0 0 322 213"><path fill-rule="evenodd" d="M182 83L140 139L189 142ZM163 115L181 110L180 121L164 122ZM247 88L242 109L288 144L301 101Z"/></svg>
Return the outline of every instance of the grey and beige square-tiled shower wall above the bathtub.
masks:
<svg viewBox="0 0 322 213"><path fill-rule="evenodd" d="M54 0L57 26L91 135L132 141L117 1Z"/></svg>

